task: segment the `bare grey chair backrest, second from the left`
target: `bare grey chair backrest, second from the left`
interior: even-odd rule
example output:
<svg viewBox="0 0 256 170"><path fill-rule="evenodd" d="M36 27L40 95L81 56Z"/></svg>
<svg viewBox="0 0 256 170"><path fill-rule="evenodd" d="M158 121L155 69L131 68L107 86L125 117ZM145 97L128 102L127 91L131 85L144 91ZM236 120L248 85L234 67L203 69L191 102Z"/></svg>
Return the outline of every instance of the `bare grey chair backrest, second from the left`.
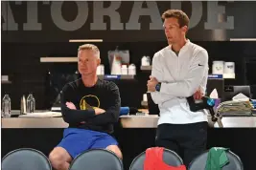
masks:
<svg viewBox="0 0 256 170"><path fill-rule="evenodd" d="M73 159L69 170L123 170L123 162L106 149L91 149Z"/></svg>

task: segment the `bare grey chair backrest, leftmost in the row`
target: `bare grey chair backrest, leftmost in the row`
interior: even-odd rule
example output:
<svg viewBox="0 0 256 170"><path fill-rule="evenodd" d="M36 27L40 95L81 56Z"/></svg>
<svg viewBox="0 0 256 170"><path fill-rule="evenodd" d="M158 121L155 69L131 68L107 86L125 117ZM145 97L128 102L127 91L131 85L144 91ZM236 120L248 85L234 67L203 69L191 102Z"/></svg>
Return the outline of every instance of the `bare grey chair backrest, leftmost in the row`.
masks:
<svg viewBox="0 0 256 170"><path fill-rule="evenodd" d="M2 170L52 170L49 159L32 148L16 149L2 159Z"/></svg>

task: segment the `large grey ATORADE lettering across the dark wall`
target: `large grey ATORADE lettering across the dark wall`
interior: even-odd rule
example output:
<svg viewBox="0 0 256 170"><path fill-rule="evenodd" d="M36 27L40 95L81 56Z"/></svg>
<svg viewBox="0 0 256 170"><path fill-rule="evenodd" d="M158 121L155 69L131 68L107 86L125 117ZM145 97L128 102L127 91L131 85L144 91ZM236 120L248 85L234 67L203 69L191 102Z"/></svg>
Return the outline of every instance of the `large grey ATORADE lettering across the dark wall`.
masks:
<svg viewBox="0 0 256 170"><path fill-rule="evenodd" d="M74 32L81 29L82 26L85 25L89 8L86 1L72 1L76 3L78 8L78 13L76 18L72 21L67 21L63 18L61 11L62 5L64 1L54 1L54 2L43 2L40 5L49 5L47 7L50 8L51 18L46 18L48 20L52 19L53 23L62 31ZM4 1L2 3L2 30L3 31L18 31L18 23L23 25L24 31L41 31L42 25L44 23L40 23L38 21L38 5L36 1L28 1L28 2L15 2L12 5L21 5L22 3L27 3L27 20L16 21L15 15L19 13L17 11L13 11L10 5L10 2ZM143 8L143 3L146 3L147 7ZM234 16L226 16L225 7L220 6L218 1L210 1L207 3L207 20L204 23L205 30L234 30ZM162 30L162 18L161 13L163 11L159 11L157 7L157 3L155 1L134 1L133 6L130 9L130 13L126 13L129 15L128 21L122 20L120 7L122 6L122 1L112 1L109 3L108 7L104 7L104 2L96 1L92 3L92 8L90 10L92 12L93 22L89 25L89 30L91 31L140 31L141 28L141 17L149 16L151 18L149 30ZM167 7L168 8L168 7ZM181 2L171 1L171 9L181 9ZM166 9L168 10L168 9ZM73 10L72 10L73 11ZM190 17L190 25L189 28L193 29L198 26L201 21L202 15L205 14L203 12L202 2L191 1L191 15ZM123 14L123 13L122 13ZM108 23L104 22L104 17L107 16L109 18L109 29L106 27ZM220 19L222 18L222 19ZM18 23L17 23L18 22ZM45 24L51 24L49 22ZM145 24L145 21L144 23ZM124 27L126 26L126 27Z"/></svg>

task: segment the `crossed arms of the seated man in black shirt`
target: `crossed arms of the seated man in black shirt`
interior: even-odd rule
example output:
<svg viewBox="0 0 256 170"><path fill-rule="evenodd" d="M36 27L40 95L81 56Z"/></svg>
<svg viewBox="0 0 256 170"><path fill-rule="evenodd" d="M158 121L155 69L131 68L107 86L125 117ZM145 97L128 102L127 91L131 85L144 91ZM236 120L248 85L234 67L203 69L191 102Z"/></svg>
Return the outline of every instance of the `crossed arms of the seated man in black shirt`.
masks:
<svg viewBox="0 0 256 170"><path fill-rule="evenodd" d="M61 94L61 113L65 122L67 123L91 123L94 125L101 125L107 123L114 123L118 121L120 115L121 99L119 89L115 85L110 88L109 107L104 109L86 109L78 110L74 103L74 90L70 85L63 88Z"/></svg>

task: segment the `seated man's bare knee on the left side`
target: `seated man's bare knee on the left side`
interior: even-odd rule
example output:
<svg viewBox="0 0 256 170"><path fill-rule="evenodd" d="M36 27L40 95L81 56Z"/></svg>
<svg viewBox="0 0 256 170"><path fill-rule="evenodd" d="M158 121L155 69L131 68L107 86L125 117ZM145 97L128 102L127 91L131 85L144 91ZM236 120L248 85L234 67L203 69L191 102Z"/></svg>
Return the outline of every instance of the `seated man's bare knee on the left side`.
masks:
<svg viewBox="0 0 256 170"><path fill-rule="evenodd" d="M49 155L49 160L55 169L63 169L65 162L69 159L62 148L55 148Z"/></svg>

